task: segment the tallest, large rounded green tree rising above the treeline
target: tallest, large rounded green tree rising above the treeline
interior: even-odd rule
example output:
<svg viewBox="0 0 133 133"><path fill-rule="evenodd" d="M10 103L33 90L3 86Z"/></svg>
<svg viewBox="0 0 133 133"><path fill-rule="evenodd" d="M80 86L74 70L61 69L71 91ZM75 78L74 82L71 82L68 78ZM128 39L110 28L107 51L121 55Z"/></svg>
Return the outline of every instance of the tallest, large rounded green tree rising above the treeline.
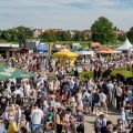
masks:
<svg viewBox="0 0 133 133"><path fill-rule="evenodd" d="M92 41L101 43L113 42L115 35L113 33L113 23L104 17L99 18L91 27Z"/></svg>

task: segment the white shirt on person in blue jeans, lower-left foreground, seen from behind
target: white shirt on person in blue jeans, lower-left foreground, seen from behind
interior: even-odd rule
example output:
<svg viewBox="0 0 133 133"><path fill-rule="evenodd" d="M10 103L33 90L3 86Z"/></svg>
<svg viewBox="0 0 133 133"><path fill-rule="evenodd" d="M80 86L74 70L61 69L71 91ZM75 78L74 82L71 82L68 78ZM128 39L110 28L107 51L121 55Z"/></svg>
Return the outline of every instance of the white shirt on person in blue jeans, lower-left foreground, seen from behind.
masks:
<svg viewBox="0 0 133 133"><path fill-rule="evenodd" d="M41 124L41 119L43 117L43 111L40 109L34 109L31 112L31 121L33 124Z"/></svg>

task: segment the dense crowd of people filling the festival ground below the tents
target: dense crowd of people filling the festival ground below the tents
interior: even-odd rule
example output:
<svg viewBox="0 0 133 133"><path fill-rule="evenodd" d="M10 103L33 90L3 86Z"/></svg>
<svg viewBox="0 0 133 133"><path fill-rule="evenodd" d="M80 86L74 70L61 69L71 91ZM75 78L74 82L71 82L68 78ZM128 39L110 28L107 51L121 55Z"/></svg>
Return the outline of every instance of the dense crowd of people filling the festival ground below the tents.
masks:
<svg viewBox="0 0 133 133"><path fill-rule="evenodd" d="M6 60L37 74L34 78L0 81L0 133L85 133L85 116L94 115L95 133L133 132L133 84L103 75L102 70L129 68L133 54L68 60L47 53L25 53ZM81 79L76 65L93 71L94 79ZM108 120L110 110L120 119ZM88 126L88 124L86 124ZM91 131L88 131L90 133Z"/></svg>

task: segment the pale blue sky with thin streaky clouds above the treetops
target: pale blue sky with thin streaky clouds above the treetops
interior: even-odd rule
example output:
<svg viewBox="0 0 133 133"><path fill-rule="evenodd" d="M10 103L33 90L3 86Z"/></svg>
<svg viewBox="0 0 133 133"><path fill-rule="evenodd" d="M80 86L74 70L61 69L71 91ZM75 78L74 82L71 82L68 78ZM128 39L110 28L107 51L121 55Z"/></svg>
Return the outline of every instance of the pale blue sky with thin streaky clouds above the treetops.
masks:
<svg viewBox="0 0 133 133"><path fill-rule="evenodd" d="M106 17L120 29L133 27L133 0L0 0L0 29L90 29Z"/></svg>

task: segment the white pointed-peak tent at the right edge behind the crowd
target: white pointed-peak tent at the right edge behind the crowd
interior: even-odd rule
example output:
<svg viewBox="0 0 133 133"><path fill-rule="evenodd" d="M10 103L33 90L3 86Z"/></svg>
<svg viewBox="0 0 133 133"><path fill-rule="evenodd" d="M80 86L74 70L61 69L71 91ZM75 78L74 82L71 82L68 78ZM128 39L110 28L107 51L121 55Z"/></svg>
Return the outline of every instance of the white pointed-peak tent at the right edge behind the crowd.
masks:
<svg viewBox="0 0 133 133"><path fill-rule="evenodd" d="M117 48L117 50L121 51L131 51L133 49L133 45L130 43L129 39L125 40L124 44Z"/></svg>

